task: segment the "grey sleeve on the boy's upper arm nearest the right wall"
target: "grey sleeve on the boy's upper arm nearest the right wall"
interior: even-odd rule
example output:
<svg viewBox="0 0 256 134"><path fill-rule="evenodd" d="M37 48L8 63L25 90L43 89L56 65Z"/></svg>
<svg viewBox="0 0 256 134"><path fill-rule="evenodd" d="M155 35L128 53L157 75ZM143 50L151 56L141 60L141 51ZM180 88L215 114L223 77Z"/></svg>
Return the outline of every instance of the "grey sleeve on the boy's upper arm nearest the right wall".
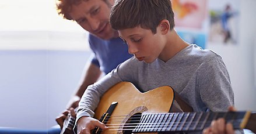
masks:
<svg viewBox="0 0 256 134"><path fill-rule="evenodd" d="M227 111L234 105L234 92L229 74L220 56L205 61L198 70L201 100L211 111Z"/></svg>

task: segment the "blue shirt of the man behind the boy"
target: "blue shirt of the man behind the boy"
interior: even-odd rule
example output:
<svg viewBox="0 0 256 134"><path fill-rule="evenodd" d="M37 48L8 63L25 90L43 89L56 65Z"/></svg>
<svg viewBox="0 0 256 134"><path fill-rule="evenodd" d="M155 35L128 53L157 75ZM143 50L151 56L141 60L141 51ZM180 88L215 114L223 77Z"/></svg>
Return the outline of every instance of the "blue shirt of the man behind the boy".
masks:
<svg viewBox="0 0 256 134"><path fill-rule="evenodd" d="M120 38L104 40L89 34L89 45L94 53L91 62L100 67L105 74L110 73L118 64L132 57L128 53L127 44Z"/></svg>

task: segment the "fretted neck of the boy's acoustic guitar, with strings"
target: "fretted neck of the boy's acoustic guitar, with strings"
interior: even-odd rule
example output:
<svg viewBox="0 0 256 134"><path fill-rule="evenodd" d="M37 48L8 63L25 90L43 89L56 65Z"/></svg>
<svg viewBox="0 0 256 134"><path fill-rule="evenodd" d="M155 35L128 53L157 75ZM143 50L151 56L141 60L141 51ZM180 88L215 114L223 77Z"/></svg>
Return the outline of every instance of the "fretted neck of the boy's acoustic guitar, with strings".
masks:
<svg viewBox="0 0 256 134"><path fill-rule="evenodd" d="M141 121L132 132L202 131L218 118L225 118L226 122L233 124L234 129L243 129L246 128L250 115L253 114L250 112L142 114Z"/></svg>

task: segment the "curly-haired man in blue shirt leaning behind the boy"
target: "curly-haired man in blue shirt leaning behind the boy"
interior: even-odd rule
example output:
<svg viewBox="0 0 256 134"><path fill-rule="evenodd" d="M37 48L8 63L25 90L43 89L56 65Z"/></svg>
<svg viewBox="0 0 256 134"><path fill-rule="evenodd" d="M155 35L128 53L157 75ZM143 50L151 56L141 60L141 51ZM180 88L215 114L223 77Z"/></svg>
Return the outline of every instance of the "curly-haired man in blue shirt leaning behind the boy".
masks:
<svg viewBox="0 0 256 134"><path fill-rule="evenodd" d="M107 74L118 64L132 57L127 45L118 38L118 32L110 27L109 16L112 0L58 0L57 10L65 19L76 21L88 31L89 44L94 56L87 67L82 84L69 100L66 110L56 118L63 126L66 115L78 107L80 97L88 85L96 82L101 73Z"/></svg>

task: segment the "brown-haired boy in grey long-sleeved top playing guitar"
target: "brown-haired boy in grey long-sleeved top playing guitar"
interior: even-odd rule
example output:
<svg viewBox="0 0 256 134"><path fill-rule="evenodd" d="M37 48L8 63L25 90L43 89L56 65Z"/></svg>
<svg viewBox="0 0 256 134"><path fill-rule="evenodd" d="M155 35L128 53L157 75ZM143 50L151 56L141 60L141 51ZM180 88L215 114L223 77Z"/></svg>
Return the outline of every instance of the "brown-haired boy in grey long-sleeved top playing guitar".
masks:
<svg viewBox="0 0 256 134"><path fill-rule="evenodd" d="M226 111L233 106L222 58L178 37L170 0L117 0L110 24L134 57L86 89L79 102L78 133L90 133L95 126L107 129L92 118L93 110L104 92L121 81L132 82L143 92L171 86L194 111Z"/></svg>

